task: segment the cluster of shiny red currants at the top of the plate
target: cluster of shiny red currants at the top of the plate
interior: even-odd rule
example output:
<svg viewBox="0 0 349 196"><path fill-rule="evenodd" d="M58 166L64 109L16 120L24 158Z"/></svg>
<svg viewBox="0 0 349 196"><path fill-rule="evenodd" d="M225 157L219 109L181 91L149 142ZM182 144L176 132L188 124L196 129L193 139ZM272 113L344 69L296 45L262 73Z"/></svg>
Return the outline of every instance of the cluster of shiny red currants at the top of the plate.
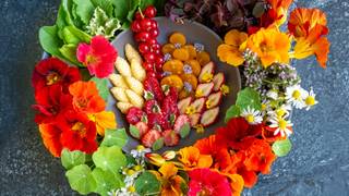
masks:
<svg viewBox="0 0 349 196"><path fill-rule="evenodd" d="M159 28L157 22L153 20L155 16L156 8L153 5L147 7L143 12L140 10L134 15L131 29L139 44L139 51L144 58L143 66L147 75L161 78L164 57L161 46L156 39Z"/></svg>

